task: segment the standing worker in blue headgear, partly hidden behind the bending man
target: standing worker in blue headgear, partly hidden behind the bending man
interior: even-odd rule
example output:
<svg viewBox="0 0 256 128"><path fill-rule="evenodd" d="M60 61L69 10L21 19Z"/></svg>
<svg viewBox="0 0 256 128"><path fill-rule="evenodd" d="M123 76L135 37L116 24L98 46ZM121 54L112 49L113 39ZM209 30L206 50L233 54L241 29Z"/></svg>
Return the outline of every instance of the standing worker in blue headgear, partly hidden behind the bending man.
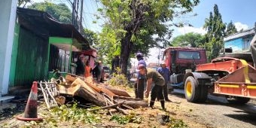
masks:
<svg viewBox="0 0 256 128"><path fill-rule="evenodd" d="M143 59L143 53L136 53L136 58L138 59L138 66L143 65L147 67L145 60ZM145 87L145 75L141 75L138 72L137 81L134 84L134 93L136 98L144 99L144 87Z"/></svg>

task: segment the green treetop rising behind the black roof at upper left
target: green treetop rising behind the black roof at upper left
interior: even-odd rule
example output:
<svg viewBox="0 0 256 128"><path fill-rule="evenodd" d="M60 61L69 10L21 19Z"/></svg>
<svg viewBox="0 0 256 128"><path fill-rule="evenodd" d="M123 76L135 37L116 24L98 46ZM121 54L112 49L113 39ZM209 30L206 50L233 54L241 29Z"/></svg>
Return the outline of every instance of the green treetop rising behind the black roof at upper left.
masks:
<svg viewBox="0 0 256 128"><path fill-rule="evenodd" d="M56 20L62 23L72 23L72 12L65 4L53 4L51 2L39 2L28 6L28 8L36 9L39 11L46 11Z"/></svg>

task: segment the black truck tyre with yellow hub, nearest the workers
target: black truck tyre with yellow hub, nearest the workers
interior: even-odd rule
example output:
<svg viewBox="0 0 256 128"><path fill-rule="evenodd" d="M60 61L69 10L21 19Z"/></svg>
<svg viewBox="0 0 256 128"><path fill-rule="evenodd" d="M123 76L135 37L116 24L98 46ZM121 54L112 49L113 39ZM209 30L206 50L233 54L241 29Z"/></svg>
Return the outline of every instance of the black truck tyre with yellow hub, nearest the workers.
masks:
<svg viewBox="0 0 256 128"><path fill-rule="evenodd" d="M187 77L184 85L184 93L187 102L197 102L200 96L200 86L197 85L195 78L191 76Z"/></svg>

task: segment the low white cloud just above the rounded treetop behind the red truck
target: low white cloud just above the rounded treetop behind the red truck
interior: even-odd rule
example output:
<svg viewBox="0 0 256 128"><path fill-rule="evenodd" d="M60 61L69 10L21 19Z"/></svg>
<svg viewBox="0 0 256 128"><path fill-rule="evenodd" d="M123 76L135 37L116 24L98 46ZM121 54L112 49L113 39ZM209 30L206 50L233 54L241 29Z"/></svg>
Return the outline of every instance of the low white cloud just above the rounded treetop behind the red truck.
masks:
<svg viewBox="0 0 256 128"><path fill-rule="evenodd" d="M178 32L181 33L181 35L187 34L189 32L195 32L195 33L199 33L201 35L206 34L206 30L203 29L203 27L195 28L192 26L184 26L182 28L178 28Z"/></svg>

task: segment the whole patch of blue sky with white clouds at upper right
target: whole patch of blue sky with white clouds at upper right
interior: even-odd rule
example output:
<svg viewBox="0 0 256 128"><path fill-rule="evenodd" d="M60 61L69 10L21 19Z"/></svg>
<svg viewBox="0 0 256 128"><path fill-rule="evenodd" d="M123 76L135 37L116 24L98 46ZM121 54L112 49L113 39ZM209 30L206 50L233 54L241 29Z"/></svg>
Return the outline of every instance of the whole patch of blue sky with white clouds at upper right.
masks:
<svg viewBox="0 0 256 128"><path fill-rule="evenodd" d="M209 13L213 12L214 5L218 5L218 10L221 13L224 23L230 23L232 20L237 29L251 29L256 22L256 8L254 0L203 0L200 5L194 8L194 12L198 14L196 17L189 17L178 19L180 21L188 21L194 27L175 28L174 36L181 35L187 32L203 32L203 24ZM186 18L188 17L188 18Z"/></svg>

